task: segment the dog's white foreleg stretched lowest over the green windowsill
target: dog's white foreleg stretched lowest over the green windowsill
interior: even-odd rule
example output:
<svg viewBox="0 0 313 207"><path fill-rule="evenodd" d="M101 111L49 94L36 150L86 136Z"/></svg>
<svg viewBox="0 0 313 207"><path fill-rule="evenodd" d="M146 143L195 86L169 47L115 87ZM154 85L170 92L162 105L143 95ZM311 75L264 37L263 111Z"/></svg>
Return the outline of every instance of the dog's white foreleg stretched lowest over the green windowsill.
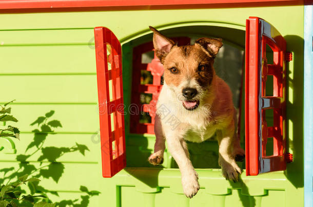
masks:
<svg viewBox="0 0 313 207"><path fill-rule="evenodd" d="M165 131L169 152L175 159L182 174L182 185L187 197L192 198L200 189L198 174L189 159L186 142L183 139L183 129Z"/></svg>

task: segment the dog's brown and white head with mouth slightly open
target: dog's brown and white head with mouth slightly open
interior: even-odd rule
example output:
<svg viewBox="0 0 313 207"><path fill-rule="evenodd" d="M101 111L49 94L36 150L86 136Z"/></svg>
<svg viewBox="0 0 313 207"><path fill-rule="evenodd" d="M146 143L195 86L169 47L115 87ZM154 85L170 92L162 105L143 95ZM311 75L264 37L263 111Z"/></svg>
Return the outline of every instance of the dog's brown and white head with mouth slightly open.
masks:
<svg viewBox="0 0 313 207"><path fill-rule="evenodd" d="M222 39L200 38L194 45L178 46L153 27L155 55L164 65L164 82L187 110L197 108L208 93L215 75L214 58Z"/></svg>

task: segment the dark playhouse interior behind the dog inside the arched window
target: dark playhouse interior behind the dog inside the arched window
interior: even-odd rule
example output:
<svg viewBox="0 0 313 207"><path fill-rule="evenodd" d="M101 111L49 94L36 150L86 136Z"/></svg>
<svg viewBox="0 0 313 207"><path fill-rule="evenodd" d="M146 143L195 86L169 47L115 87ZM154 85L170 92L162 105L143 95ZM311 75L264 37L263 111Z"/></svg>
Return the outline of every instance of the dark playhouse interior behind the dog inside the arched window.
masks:
<svg viewBox="0 0 313 207"><path fill-rule="evenodd" d="M238 111L238 134L241 146L245 149L244 121L244 70L245 70L245 30L222 26L186 26L160 30L164 35L178 42L179 45L194 44L200 37L216 37L223 39L223 47L219 51L214 69L230 86L233 103ZM122 44L123 51L123 92L125 104L125 137L127 167L178 168L170 153L165 151L164 163L152 166L148 157L153 153L155 136L153 134L153 114L145 109L157 100L163 77L149 69L154 51L152 33L135 38ZM267 63L273 61L273 52L266 45ZM266 96L272 95L273 78L267 77ZM138 105L139 107L135 107ZM150 113L149 113L150 112ZM273 111L266 110L267 125L273 124ZM218 142L216 139L204 143L187 142L190 159L194 168L220 168L218 165ZM266 155L273 154L273 140L268 138ZM245 169L245 160L238 163Z"/></svg>

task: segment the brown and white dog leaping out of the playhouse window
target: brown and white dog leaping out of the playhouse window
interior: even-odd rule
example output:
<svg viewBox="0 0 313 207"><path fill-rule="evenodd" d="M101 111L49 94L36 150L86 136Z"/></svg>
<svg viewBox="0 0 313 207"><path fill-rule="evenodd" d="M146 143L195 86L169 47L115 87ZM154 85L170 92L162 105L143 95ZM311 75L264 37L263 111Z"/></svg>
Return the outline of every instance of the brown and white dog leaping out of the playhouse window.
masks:
<svg viewBox="0 0 313 207"><path fill-rule="evenodd" d="M194 45L179 47L158 30L149 28L153 31L155 54L164 65L164 85L154 125L157 139L149 162L163 163L166 140L180 168L184 193L191 198L200 186L185 140L201 143L217 133L223 176L238 181L241 169L236 159L243 159L244 150L236 133L236 109L229 86L213 68L222 39L203 37Z"/></svg>

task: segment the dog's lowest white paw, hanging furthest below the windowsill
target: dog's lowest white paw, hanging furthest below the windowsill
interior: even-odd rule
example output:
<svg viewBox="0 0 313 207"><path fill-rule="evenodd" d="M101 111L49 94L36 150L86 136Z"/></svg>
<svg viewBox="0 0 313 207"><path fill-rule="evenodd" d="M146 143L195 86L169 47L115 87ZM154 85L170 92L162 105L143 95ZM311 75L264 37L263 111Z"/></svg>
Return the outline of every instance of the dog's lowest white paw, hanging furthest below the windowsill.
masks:
<svg viewBox="0 0 313 207"><path fill-rule="evenodd" d="M192 198L195 194L197 194L200 189L197 172L194 171L191 175L182 176L182 185L184 194L188 198Z"/></svg>

